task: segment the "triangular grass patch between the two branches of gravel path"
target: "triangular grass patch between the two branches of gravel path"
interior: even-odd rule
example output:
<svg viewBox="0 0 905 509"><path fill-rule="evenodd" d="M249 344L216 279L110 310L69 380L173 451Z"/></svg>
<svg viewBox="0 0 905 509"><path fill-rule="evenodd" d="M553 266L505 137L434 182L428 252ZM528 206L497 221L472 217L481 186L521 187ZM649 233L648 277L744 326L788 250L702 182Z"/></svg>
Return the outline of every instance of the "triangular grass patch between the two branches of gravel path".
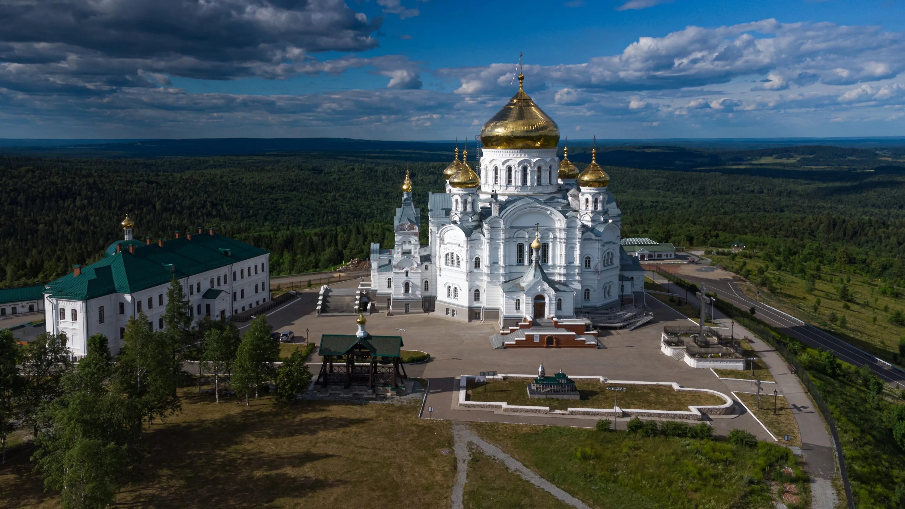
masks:
<svg viewBox="0 0 905 509"><path fill-rule="evenodd" d="M466 509L566 509L568 504L532 485L504 464L472 447L462 494Z"/></svg>

